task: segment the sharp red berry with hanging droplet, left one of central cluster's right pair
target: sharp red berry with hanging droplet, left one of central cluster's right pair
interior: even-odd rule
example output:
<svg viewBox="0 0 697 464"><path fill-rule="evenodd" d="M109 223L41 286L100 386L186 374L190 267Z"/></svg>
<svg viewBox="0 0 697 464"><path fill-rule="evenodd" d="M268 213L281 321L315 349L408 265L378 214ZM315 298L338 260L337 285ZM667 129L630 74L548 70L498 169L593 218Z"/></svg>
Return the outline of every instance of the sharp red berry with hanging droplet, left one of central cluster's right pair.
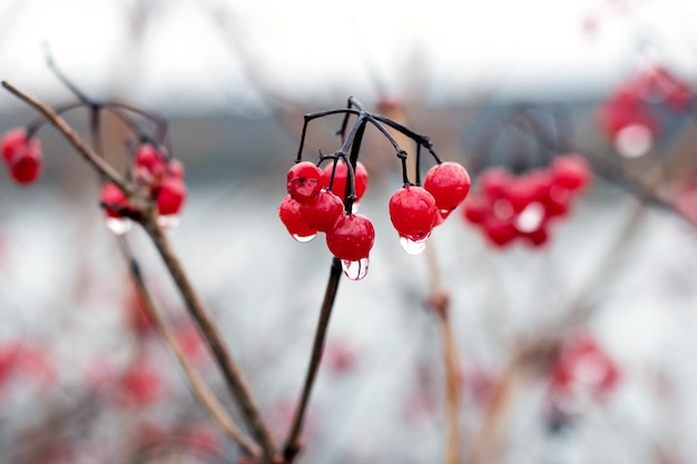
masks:
<svg viewBox="0 0 697 464"><path fill-rule="evenodd" d="M409 186L390 198L390 219L401 237L414 241L428 238L435 221L435 199L426 189Z"/></svg>

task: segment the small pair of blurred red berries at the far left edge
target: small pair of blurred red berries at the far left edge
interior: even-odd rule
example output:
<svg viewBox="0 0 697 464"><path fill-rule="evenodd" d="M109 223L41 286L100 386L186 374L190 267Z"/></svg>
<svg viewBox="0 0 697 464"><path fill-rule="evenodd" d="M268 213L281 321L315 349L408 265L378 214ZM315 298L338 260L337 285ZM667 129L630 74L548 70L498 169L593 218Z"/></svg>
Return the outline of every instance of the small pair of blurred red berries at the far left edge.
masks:
<svg viewBox="0 0 697 464"><path fill-rule="evenodd" d="M26 129L18 128L6 132L0 145L2 159L12 179L18 184L27 185L39 178L43 156L38 138L29 136Z"/></svg>

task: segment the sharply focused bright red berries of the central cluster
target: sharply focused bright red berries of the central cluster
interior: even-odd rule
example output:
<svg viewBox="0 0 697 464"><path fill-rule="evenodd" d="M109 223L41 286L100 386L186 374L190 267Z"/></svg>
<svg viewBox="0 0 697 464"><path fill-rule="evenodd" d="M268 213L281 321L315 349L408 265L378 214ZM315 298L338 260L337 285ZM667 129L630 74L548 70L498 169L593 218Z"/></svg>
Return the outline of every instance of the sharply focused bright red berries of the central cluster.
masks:
<svg viewBox="0 0 697 464"><path fill-rule="evenodd" d="M353 190L346 189L350 180ZM348 263L367 259L375 229L365 216L346 211L342 200L353 191L355 201L360 201L365 192L367 172L361 162L351 178L346 162L331 164L323 170L310 161L301 161L288 170L286 187L288 195L278 208L278 216L296 240L308 241L322 231L336 258ZM457 162L439 164L426 172L423 187L409 185L392 196L390 218L400 237L423 243L469 190L470 177L464 167Z"/></svg>

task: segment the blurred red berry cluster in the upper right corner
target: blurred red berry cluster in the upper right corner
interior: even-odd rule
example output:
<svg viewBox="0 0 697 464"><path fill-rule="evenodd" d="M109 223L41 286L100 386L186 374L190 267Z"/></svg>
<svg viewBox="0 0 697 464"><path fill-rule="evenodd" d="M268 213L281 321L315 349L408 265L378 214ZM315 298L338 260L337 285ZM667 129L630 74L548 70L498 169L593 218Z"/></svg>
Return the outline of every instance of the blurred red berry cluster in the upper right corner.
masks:
<svg viewBox="0 0 697 464"><path fill-rule="evenodd" d="M655 105L685 112L694 103L695 91L661 66L652 66L624 82L602 103L599 120L616 149L629 157L648 152L660 130Z"/></svg>

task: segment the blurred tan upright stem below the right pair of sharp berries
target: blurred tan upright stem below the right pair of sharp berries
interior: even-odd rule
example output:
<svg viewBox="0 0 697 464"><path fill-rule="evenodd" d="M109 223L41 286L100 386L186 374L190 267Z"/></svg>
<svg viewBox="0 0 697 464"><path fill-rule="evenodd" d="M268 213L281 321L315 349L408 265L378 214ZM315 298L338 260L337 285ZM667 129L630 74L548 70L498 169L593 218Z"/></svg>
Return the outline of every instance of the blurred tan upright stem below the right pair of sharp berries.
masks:
<svg viewBox="0 0 697 464"><path fill-rule="evenodd" d="M445 442L444 464L458 464L460 461L460 385L458 379L458 347L450 320L450 298L443 288L433 238L426 246L426 263L431 280L430 305L438 318L438 326L443 343L443 368L445 371L445 416L448 418L448 438Z"/></svg>

